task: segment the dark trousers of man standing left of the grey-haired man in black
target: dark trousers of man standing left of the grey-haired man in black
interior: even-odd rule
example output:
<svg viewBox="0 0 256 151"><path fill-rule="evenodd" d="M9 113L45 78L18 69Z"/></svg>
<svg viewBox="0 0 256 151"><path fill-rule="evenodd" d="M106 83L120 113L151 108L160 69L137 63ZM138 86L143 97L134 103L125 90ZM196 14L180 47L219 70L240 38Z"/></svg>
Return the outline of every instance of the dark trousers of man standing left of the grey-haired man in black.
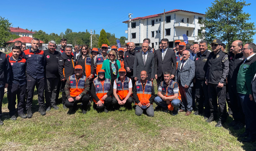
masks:
<svg viewBox="0 0 256 151"><path fill-rule="evenodd" d="M27 108L32 107L33 96L35 91L35 86L37 87L38 94L38 105L44 107L44 88L45 88L45 80L44 78L35 79L32 76L27 74Z"/></svg>

